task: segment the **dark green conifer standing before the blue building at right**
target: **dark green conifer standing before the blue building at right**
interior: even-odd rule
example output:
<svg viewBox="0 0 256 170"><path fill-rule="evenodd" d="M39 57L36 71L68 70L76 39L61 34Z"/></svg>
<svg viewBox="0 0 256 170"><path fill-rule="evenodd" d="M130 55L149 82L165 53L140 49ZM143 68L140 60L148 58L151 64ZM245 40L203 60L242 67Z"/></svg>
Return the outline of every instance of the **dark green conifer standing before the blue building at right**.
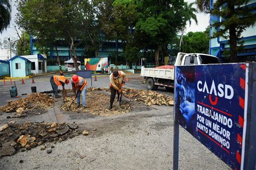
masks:
<svg viewBox="0 0 256 170"><path fill-rule="evenodd" d="M256 6L247 6L248 0L217 0L214 3L211 15L223 18L220 22L215 22L212 26L219 28L213 33L213 37L223 37L228 39L230 44L230 62L240 62L237 56L242 49L241 33L256 22ZM240 44L240 45L239 45Z"/></svg>

